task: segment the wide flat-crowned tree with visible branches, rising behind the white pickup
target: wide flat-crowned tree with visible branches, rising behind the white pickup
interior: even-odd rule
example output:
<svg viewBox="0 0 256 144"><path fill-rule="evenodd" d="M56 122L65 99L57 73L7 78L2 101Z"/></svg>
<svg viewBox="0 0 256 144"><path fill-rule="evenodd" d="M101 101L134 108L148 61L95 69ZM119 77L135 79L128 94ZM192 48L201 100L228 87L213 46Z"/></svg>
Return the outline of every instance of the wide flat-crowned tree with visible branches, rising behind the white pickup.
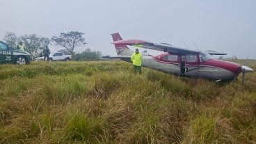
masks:
<svg viewBox="0 0 256 144"><path fill-rule="evenodd" d="M72 56L74 56L74 48L86 45L84 33L79 31L70 31L68 33L61 33L61 35L51 38L54 45L64 47Z"/></svg>

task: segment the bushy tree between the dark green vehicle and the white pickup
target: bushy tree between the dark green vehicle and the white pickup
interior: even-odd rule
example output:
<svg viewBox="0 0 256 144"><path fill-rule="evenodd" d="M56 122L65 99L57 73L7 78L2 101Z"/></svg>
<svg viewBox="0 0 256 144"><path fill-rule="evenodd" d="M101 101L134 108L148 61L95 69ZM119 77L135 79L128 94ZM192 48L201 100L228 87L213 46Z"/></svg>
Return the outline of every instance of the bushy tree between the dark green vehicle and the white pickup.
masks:
<svg viewBox="0 0 256 144"><path fill-rule="evenodd" d="M36 34L22 35L20 40L24 43L25 51L31 55L32 59L38 57L42 49L50 43L49 38L44 38Z"/></svg>

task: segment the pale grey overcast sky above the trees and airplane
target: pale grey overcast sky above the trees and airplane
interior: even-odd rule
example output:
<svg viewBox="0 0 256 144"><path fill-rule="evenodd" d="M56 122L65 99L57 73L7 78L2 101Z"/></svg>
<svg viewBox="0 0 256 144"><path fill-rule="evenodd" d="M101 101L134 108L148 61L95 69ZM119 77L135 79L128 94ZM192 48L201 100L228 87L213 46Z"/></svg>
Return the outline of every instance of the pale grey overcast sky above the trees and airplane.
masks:
<svg viewBox="0 0 256 144"><path fill-rule="evenodd" d="M6 31L48 38L82 31L90 49L115 55L111 33L124 39L256 58L255 0L0 0ZM56 47L51 46L51 49ZM79 48L81 50L81 48Z"/></svg>

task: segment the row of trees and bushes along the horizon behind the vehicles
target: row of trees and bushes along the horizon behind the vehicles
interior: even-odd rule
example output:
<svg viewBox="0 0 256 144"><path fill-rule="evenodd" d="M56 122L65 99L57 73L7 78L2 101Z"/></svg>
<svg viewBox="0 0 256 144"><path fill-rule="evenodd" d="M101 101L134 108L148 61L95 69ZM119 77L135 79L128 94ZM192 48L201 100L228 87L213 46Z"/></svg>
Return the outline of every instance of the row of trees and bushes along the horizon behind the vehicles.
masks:
<svg viewBox="0 0 256 144"><path fill-rule="evenodd" d="M79 31L70 31L61 33L58 36L53 36L49 39L36 34L17 36L15 33L6 32L3 41L6 42L9 47L13 47L14 49L19 42L23 42L25 51L31 55L32 59L39 57L45 46L54 44L63 47L59 52L71 54L74 61L99 61L100 56L102 56L100 51L85 49L81 53L74 52L76 47L85 46L87 44L86 39L83 37L84 34L85 33Z"/></svg>

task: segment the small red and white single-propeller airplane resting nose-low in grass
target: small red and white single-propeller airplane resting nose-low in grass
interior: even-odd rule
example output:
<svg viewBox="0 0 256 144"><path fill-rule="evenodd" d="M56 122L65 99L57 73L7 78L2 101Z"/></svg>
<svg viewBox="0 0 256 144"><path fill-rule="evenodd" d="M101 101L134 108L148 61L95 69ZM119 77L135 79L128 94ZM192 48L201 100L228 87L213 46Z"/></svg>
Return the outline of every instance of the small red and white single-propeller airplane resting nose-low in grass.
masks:
<svg viewBox="0 0 256 144"><path fill-rule="evenodd" d="M250 67L228 61L214 59L212 55L226 55L218 51L198 51L175 47L167 43L153 43L145 40L122 40L119 33L113 33L113 45L118 56L104 56L103 58L119 58L131 63L129 47L139 47L163 51L157 56L143 56L143 67L159 70L168 74L176 74L182 77L200 77L214 81L230 81L237 79L243 72L253 72Z"/></svg>

